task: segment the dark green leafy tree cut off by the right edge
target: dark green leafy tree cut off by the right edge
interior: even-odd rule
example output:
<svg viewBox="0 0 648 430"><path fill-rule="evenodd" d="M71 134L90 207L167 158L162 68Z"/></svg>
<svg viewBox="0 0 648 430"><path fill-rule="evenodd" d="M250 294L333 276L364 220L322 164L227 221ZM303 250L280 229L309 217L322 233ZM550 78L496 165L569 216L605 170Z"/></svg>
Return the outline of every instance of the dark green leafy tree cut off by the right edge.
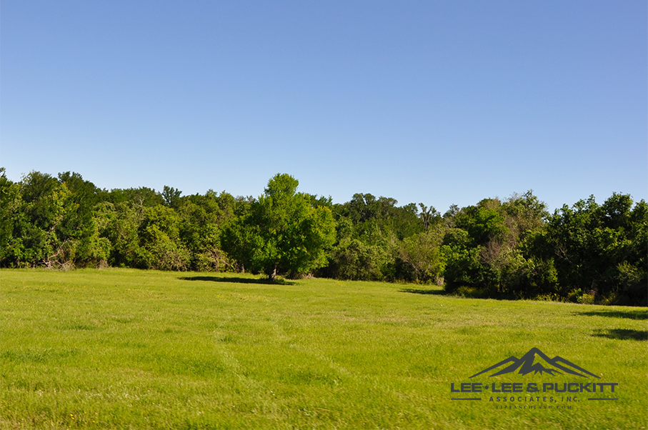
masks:
<svg viewBox="0 0 648 430"><path fill-rule="evenodd" d="M554 212L547 231L562 286L599 299L647 304L648 205L614 193Z"/></svg>

